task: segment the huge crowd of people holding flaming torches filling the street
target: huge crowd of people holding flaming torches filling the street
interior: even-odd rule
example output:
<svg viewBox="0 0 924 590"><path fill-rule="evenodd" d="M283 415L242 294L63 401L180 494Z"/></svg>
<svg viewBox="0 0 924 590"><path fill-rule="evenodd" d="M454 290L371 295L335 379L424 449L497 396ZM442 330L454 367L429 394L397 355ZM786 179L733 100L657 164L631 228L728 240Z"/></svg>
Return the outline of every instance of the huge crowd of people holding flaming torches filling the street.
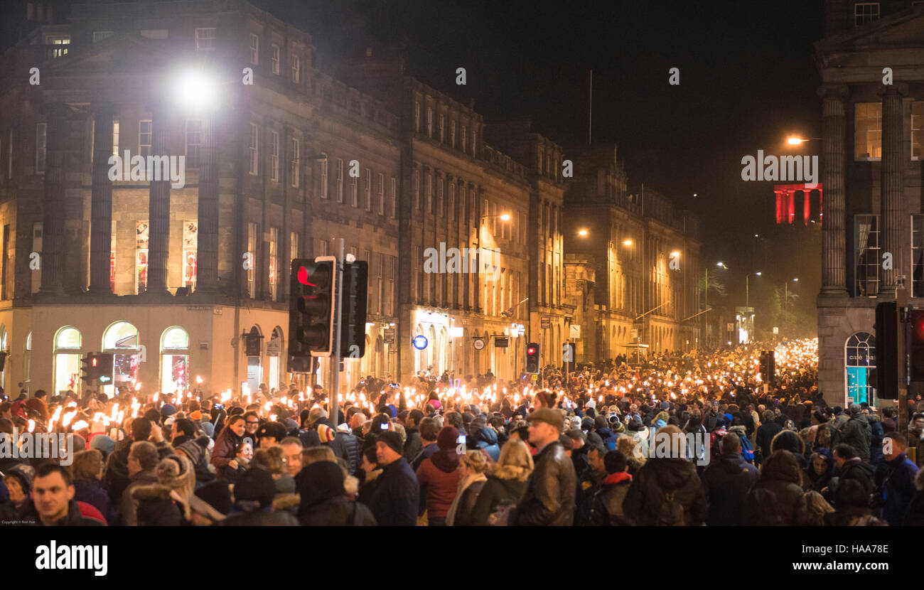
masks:
<svg viewBox="0 0 924 590"><path fill-rule="evenodd" d="M778 347L772 386L760 350L549 366L538 382L370 375L336 415L320 386L39 391L0 404L0 433L65 434L72 461L3 453L0 522L924 524L920 396L909 424L832 407L817 341Z"/></svg>

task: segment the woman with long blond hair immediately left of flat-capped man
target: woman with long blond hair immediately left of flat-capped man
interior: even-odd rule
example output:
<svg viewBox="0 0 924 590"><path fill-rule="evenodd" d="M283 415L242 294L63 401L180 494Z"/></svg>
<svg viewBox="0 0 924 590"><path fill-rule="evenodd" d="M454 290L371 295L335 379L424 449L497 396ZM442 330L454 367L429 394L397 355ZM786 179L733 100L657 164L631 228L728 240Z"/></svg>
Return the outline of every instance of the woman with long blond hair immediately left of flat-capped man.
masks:
<svg viewBox="0 0 924 590"><path fill-rule="evenodd" d="M511 438L501 448L497 462L485 470L486 481L471 511L471 524L484 525L502 501L517 503L526 492L529 474L535 468L525 442Z"/></svg>

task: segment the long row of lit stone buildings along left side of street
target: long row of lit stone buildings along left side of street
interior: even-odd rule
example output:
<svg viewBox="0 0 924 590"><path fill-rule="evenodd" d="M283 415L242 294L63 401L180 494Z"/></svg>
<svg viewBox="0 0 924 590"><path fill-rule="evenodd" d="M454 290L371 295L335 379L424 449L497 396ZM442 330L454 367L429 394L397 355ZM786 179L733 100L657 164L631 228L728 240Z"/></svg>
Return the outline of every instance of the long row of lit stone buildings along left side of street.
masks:
<svg viewBox="0 0 924 590"><path fill-rule="evenodd" d="M79 390L91 351L116 354L118 387L307 385L287 372L290 264L340 240L370 264L366 354L343 387L428 368L512 378L527 342L557 364L567 338L594 333L565 289L581 180L562 172L590 154L485 123L400 60L316 68L309 33L244 0L86 2L33 11L22 31L0 63L7 391ZM126 151L128 176L110 180ZM183 186L133 176L133 156L182 156ZM633 235L673 235L659 219ZM434 270L452 250L475 256L469 272ZM625 272L647 280L640 256Z"/></svg>

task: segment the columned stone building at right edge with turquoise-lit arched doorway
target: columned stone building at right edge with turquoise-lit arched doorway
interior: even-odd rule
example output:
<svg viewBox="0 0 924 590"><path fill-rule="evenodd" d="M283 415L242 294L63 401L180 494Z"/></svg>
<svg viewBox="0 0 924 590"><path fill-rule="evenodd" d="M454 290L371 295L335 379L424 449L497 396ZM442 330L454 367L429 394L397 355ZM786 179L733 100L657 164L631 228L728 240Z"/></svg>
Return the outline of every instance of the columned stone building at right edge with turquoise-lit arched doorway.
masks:
<svg viewBox="0 0 924 590"><path fill-rule="evenodd" d="M894 301L904 286L912 305L924 304L924 6L827 0L824 8L824 38L815 44L824 186L819 387L829 403L879 405L896 392L875 391L876 303Z"/></svg>

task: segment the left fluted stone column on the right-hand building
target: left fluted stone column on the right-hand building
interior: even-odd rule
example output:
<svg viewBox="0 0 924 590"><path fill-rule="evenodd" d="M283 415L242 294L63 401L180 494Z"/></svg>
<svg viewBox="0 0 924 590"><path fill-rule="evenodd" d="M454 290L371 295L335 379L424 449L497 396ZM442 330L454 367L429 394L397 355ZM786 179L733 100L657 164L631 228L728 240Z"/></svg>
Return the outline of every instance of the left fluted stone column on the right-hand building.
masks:
<svg viewBox="0 0 924 590"><path fill-rule="evenodd" d="M821 295L846 297L845 287L845 121L847 87L826 84L821 96L821 183L828 191L828 215L821 223Z"/></svg>

